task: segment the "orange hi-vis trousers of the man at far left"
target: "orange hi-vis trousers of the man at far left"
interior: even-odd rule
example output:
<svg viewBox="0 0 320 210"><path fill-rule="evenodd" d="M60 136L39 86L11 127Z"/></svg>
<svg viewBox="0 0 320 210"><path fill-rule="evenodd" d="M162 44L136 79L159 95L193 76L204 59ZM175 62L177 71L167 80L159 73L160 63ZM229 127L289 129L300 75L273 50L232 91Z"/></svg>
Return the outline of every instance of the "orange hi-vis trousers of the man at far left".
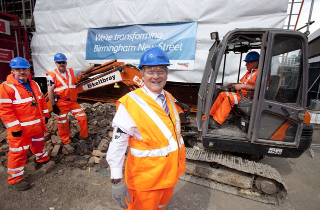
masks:
<svg viewBox="0 0 320 210"><path fill-rule="evenodd" d="M9 177L7 182L9 185L13 185L23 179L24 166L29 148L35 155L35 162L42 163L50 159L47 152L43 149L43 133L27 138L24 138L22 133L21 137L9 139L8 142L9 153L7 173L9 174Z"/></svg>

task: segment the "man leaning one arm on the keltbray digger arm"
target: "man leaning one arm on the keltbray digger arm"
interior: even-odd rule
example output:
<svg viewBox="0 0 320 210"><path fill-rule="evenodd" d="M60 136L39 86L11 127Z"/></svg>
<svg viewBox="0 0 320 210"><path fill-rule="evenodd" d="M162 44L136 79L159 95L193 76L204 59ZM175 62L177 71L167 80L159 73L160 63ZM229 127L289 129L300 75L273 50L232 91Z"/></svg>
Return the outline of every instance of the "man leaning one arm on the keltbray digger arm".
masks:
<svg viewBox="0 0 320 210"><path fill-rule="evenodd" d="M80 139L90 143L88 138L87 117L81 106L76 103L77 91L75 88L75 77L81 73L88 72L100 64L93 64L82 67L81 69L66 68L66 57L62 53L54 55L56 69L46 73L47 93L53 113L57 115L56 121L60 139L63 144L71 142L69 139L69 123L67 120L68 112L75 117L80 126Z"/></svg>

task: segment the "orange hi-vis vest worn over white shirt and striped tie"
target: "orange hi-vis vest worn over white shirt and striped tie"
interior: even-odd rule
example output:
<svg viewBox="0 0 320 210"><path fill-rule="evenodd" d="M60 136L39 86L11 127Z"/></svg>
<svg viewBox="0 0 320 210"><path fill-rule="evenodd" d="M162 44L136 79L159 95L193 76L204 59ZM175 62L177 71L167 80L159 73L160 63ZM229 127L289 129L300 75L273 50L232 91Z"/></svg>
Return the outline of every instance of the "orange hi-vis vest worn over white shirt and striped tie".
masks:
<svg viewBox="0 0 320 210"><path fill-rule="evenodd" d="M166 91L169 116L140 88L117 101L123 104L142 139L129 138L125 183L131 190L173 187L185 170L185 151L174 98Z"/></svg>

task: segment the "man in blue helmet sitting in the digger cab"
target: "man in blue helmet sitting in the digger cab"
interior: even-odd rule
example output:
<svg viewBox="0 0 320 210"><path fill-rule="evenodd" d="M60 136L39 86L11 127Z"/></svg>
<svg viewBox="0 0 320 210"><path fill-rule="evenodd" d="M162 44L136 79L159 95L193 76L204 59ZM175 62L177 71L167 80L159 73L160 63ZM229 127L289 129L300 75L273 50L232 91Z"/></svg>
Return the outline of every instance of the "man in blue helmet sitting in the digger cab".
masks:
<svg viewBox="0 0 320 210"><path fill-rule="evenodd" d="M240 83L228 84L226 87L234 88L235 92L220 92L216 100L214 101L209 116L209 125L214 129L219 129L221 124L225 121L229 115L231 108L238 104L241 98L239 90L242 91L244 97L247 96L248 90L254 90L255 81L257 76L257 67L259 64L259 53L249 52L243 61L245 61L245 66L247 72L240 79ZM251 72L252 71L252 72Z"/></svg>

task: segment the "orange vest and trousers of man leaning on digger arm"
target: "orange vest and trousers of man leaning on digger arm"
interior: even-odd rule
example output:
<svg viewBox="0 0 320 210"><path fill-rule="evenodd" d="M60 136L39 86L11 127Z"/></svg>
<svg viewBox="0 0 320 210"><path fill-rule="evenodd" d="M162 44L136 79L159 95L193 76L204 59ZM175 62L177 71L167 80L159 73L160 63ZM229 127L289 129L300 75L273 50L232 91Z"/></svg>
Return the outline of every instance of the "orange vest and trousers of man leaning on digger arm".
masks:
<svg viewBox="0 0 320 210"><path fill-rule="evenodd" d="M54 93L58 95L57 107L60 110L60 115L55 119L58 123L58 131L60 139L63 144L71 142L69 139L69 123L67 120L68 112L75 117L80 126L79 136L82 138L88 137L87 117L83 109L76 103L77 92L75 88L75 77L72 68L65 69L66 78L64 78L57 69L47 72L46 75L50 75L54 82Z"/></svg>

